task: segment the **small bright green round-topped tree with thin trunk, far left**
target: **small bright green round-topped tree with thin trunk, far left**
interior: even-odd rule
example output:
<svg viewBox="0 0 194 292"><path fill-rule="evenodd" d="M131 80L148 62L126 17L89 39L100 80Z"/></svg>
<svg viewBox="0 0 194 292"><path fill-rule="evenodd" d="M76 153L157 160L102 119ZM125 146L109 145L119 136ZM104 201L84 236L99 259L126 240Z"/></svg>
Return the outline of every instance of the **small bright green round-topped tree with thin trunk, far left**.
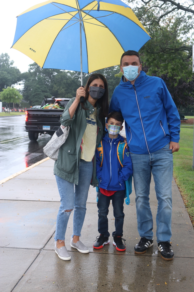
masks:
<svg viewBox="0 0 194 292"><path fill-rule="evenodd" d="M19 103L22 100L22 95L14 87L3 88L3 91L0 93L0 99L4 102L9 103L9 112L10 112L10 102Z"/></svg>

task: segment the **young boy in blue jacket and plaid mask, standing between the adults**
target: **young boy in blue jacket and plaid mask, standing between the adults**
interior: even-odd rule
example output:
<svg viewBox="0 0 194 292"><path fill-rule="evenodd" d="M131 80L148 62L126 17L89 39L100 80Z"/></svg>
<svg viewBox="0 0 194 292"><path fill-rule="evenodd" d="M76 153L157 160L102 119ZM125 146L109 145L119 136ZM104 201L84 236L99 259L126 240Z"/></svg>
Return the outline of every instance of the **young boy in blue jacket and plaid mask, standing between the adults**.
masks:
<svg viewBox="0 0 194 292"><path fill-rule="evenodd" d="M123 236L123 203L125 197L125 181L133 173L129 150L123 148L123 161L119 159L118 147L123 143L119 135L122 130L123 117L120 112L111 112L107 117L106 128L108 133L102 138L96 150L96 174L99 180L98 192L98 232L97 241L93 248L102 248L108 244L110 233L108 232L108 207L110 200L113 204L115 217L115 231L113 232L113 245L118 251L125 251L125 239ZM124 144L126 146L126 144Z"/></svg>

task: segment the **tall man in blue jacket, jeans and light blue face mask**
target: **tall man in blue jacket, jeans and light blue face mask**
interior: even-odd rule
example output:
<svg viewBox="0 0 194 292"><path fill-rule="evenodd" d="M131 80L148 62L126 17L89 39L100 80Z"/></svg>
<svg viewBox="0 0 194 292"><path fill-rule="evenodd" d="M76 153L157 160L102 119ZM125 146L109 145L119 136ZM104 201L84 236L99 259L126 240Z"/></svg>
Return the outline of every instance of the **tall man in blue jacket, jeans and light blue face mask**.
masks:
<svg viewBox="0 0 194 292"><path fill-rule="evenodd" d="M123 76L115 88L109 111L122 113L133 164L138 232L141 237L134 252L143 254L153 245L153 220L149 205L152 173L158 200L158 249L164 260L172 260L172 153L179 150L179 114L165 82L141 71L141 60L136 51L123 53L120 68Z"/></svg>

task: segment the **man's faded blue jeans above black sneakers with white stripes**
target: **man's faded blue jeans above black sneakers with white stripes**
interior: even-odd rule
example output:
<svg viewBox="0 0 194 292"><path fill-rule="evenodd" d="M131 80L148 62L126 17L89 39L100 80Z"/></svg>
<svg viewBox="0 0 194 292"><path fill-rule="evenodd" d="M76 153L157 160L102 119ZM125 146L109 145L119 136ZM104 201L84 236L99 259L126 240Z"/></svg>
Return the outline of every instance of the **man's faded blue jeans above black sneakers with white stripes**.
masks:
<svg viewBox="0 0 194 292"><path fill-rule="evenodd" d="M168 143L162 149L151 154L134 154L130 152L130 155L133 164L139 235L147 239L152 239L153 237L153 219L149 206L149 187L152 173L158 200L156 215L157 242L170 242L172 235L172 149L169 149Z"/></svg>

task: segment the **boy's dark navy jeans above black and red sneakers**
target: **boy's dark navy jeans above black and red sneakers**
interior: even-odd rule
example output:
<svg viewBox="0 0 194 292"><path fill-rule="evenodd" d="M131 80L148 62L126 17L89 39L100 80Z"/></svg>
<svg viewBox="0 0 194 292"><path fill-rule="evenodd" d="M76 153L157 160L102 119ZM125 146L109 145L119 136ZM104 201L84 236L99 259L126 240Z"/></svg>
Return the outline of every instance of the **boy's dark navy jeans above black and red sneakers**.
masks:
<svg viewBox="0 0 194 292"><path fill-rule="evenodd" d="M112 196L108 197L102 194L100 191L98 193L98 232L109 237L110 233L108 232L108 207L110 201L112 200L113 204L113 215L115 217L115 231L113 236L123 236L123 222L124 222L124 213L123 213L123 204L124 204L125 191L117 191Z"/></svg>

